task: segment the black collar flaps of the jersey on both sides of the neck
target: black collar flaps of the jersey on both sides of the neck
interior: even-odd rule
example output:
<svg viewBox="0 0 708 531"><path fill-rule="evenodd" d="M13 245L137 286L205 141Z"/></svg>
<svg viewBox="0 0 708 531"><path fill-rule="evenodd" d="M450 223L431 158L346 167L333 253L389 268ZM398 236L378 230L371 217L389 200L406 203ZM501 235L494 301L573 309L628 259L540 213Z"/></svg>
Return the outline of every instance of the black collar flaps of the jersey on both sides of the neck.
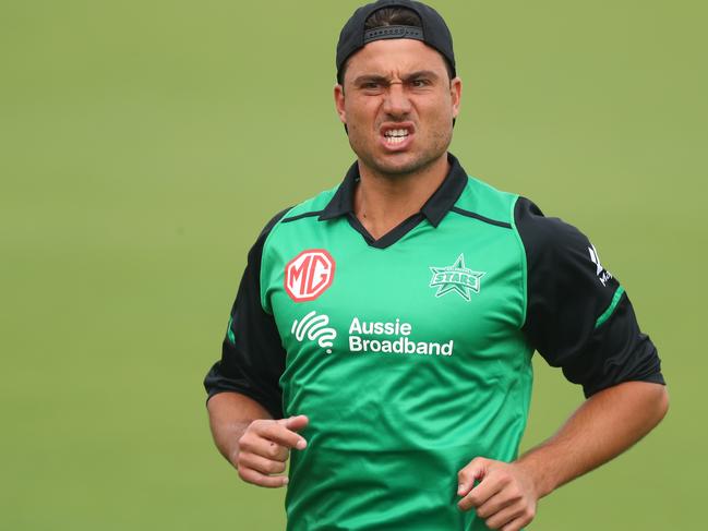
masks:
<svg viewBox="0 0 708 531"><path fill-rule="evenodd" d="M437 227L445 217L445 214L455 205L465 185L467 184L467 172L459 165L457 158L448 153L447 161L449 171L445 180L429 197L420 212L433 227ZM334 219L347 214L353 214L353 192L359 181L359 164L355 162L347 171L344 181L335 192L327 206L320 214L320 220Z"/></svg>

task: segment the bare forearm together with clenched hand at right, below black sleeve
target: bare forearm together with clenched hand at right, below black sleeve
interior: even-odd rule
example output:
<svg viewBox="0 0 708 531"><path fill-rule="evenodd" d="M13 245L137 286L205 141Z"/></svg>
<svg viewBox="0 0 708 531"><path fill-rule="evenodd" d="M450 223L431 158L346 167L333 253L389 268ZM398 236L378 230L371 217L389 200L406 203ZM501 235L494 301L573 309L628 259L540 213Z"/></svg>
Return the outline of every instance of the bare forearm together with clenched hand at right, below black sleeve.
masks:
<svg viewBox="0 0 708 531"><path fill-rule="evenodd" d="M476 508L490 529L517 531L533 519L539 498L622 454L649 433L668 408L669 396L660 384L626 382L601 390L555 435L516 461L472 459L458 474L458 506Z"/></svg>

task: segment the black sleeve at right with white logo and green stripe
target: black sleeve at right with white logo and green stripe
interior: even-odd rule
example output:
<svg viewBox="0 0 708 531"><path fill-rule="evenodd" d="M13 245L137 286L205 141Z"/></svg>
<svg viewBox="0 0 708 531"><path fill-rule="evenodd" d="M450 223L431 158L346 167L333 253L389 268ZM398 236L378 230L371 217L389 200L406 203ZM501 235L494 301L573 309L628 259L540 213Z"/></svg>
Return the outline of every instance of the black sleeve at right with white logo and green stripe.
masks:
<svg viewBox="0 0 708 531"><path fill-rule="evenodd" d="M629 382L664 384L657 349L639 329L632 303L585 234L544 217L519 197L516 227L527 261L529 343L586 397Z"/></svg>

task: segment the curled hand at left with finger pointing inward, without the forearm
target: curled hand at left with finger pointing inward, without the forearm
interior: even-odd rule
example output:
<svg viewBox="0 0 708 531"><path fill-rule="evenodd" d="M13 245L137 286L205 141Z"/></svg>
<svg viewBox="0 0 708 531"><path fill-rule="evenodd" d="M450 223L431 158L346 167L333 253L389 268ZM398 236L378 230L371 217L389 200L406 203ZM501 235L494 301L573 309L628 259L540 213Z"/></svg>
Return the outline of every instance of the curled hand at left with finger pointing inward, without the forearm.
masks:
<svg viewBox="0 0 708 531"><path fill-rule="evenodd" d="M230 459L241 479L269 488L287 485L288 476L281 475L285 472L285 462L290 456L290 448L301 450L308 445L297 432L309 422L303 414L289 419L260 419L251 422L239 438Z"/></svg>

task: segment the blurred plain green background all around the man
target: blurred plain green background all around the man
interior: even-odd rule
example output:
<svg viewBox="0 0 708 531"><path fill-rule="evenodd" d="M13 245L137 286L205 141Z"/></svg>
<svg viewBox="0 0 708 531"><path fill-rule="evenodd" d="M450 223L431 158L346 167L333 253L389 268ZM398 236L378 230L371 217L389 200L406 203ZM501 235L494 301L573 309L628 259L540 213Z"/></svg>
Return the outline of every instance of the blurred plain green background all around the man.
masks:
<svg viewBox="0 0 708 531"><path fill-rule="evenodd" d="M284 492L213 447L202 378L262 226L353 160L332 87L358 4L0 1L0 529L283 529ZM431 4L452 152L592 239L670 383L667 420L531 528L699 528L705 2ZM525 447L583 399L536 367Z"/></svg>

